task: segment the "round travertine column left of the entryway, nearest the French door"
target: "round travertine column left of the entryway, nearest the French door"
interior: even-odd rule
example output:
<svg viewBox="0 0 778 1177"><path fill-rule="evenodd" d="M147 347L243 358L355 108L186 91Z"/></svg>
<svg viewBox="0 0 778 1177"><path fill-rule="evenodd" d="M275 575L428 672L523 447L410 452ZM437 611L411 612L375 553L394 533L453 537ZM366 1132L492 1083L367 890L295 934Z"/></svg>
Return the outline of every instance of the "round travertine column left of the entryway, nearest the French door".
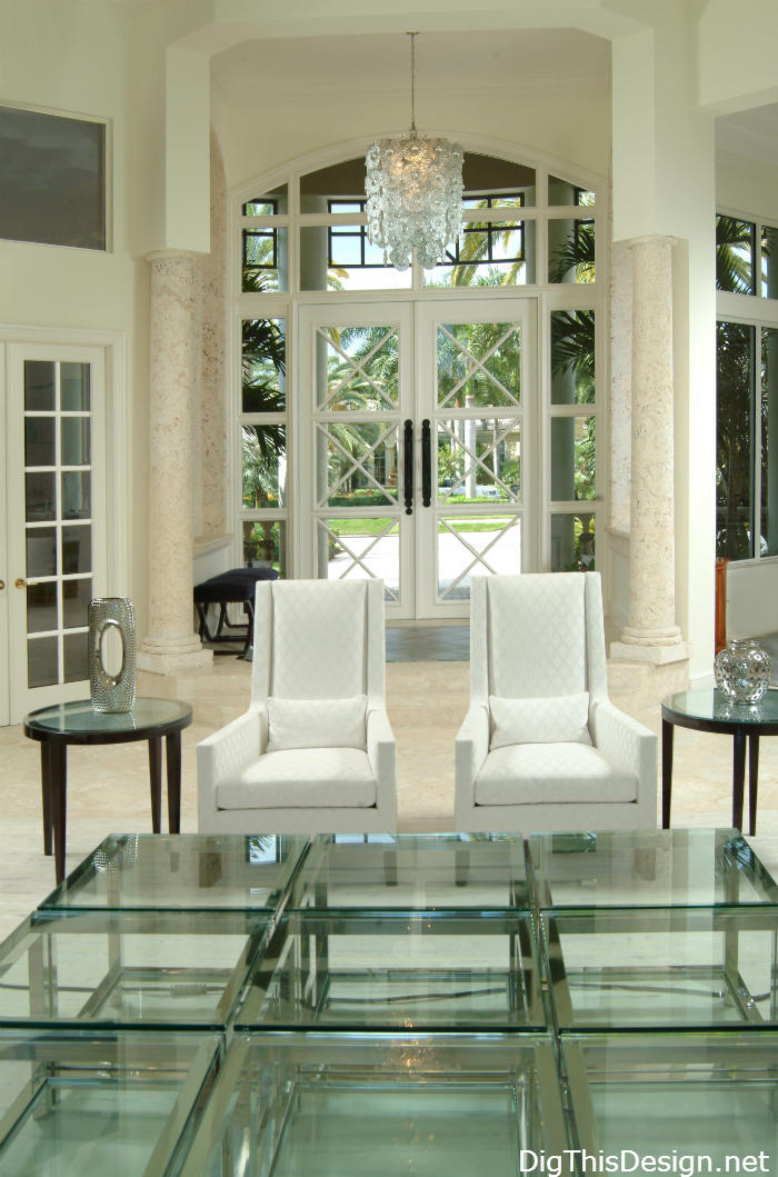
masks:
<svg viewBox="0 0 778 1177"><path fill-rule="evenodd" d="M148 472L148 637L140 670L207 666L192 606L192 401L194 260L158 250L152 264Z"/></svg>

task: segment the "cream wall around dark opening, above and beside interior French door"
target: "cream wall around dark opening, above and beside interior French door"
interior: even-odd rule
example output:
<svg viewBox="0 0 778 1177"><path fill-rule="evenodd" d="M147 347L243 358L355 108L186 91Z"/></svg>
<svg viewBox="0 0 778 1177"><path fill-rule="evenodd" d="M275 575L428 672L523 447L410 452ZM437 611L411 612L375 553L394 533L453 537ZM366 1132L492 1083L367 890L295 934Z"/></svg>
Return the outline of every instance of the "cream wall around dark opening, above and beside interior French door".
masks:
<svg viewBox="0 0 778 1177"><path fill-rule="evenodd" d="M111 120L109 253L0 241L0 322L109 330L126 337L131 459L128 576L109 591L135 601L146 626L148 266L135 254L132 36L119 5L2 0L0 101Z"/></svg>

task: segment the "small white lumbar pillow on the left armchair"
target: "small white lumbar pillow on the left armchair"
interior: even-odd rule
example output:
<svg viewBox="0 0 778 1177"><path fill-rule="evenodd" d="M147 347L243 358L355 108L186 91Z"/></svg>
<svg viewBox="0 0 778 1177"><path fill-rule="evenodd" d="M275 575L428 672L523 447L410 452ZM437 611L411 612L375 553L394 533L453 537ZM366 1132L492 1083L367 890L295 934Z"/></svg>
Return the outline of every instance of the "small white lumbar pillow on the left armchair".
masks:
<svg viewBox="0 0 778 1177"><path fill-rule="evenodd" d="M267 751L290 747L360 747L365 751L367 697L267 700Z"/></svg>

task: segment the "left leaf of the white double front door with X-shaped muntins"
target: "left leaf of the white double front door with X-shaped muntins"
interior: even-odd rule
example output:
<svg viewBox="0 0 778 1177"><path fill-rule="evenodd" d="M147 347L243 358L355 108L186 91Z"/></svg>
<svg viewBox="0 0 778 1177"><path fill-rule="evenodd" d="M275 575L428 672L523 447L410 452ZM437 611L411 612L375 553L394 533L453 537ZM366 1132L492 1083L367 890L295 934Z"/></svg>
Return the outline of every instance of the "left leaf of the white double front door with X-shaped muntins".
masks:
<svg viewBox="0 0 778 1177"><path fill-rule="evenodd" d="M300 315L302 414L312 446L302 459L300 526L311 560L302 576L380 578L387 617L413 617L413 518L405 513L403 483L411 307L311 306Z"/></svg>

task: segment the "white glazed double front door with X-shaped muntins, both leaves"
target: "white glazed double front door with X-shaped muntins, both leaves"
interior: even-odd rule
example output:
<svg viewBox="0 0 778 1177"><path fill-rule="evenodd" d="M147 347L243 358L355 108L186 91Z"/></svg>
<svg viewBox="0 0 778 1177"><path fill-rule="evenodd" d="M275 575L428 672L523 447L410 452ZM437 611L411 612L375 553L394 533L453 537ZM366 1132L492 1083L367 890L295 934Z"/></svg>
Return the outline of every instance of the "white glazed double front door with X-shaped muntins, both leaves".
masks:
<svg viewBox="0 0 778 1177"><path fill-rule="evenodd" d="M534 302L306 305L299 330L300 576L457 618L472 576L534 566Z"/></svg>

